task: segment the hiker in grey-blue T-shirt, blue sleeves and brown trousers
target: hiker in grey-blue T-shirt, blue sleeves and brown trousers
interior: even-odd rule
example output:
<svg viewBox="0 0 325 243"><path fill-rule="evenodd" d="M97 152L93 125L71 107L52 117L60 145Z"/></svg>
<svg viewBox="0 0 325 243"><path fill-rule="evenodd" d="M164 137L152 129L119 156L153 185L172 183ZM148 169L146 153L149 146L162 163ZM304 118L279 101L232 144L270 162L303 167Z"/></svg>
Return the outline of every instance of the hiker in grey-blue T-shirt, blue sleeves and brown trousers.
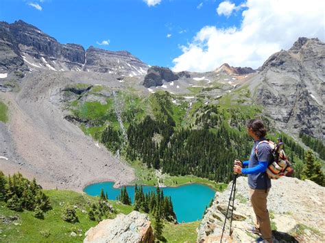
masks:
<svg viewBox="0 0 325 243"><path fill-rule="evenodd" d="M271 188L271 180L266 174L267 166L273 162L272 149L266 140L266 129L262 120L253 119L247 123L248 135L254 139L254 146L250 154L250 160L241 163L234 161L234 173L248 175L248 186L250 186L250 201L256 215L255 226L246 229L250 233L261 235L266 242L272 242L271 223L267 211L267 194ZM256 146L257 150L256 150ZM248 168L242 168L248 166Z"/></svg>

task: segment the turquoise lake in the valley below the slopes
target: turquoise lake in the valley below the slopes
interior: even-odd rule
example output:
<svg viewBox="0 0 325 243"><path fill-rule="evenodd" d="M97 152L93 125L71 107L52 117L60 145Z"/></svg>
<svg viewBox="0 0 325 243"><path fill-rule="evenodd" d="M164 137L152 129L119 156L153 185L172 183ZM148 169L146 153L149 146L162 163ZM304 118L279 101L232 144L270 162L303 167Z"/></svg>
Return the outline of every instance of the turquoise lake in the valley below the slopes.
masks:
<svg viewBox="0 0 325 243"><path fill-rule="evenodd" d="M116 200L121 188L113 188L114 182L95 183L84 188L84 192L91 196L99 196L101 188L108 194L108 199ZM193 222L202 219L204 209L215 196L215 191L208 186L191 183L178 187L160 188L164 196L171 196L173 210L178 222ZM127 186L126 190L132 203L134 201L134 186ZM143 192L156 191L154 186L143 186Z"/></svg>

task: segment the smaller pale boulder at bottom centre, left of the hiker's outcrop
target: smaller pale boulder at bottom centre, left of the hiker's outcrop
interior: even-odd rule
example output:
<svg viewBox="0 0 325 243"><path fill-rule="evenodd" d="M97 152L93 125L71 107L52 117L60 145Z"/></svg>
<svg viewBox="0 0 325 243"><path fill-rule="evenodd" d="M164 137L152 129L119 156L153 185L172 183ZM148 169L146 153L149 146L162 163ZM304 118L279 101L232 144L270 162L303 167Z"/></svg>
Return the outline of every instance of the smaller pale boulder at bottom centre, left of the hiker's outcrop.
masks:
<svg viewBox="0 0 325 243"><path fill-rule="evenodd" d="M86 232L86 242L154 242L154 234L148 216L133 211L99 222Z"/></svg>

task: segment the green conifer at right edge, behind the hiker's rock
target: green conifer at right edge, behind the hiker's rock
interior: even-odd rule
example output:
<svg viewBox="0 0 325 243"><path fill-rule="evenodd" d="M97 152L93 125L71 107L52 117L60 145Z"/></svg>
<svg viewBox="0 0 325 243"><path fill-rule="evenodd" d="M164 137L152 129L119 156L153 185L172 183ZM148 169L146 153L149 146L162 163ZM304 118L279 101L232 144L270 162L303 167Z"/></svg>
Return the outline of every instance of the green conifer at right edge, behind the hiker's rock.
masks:
<svg viewBox="0 0 325 243"><path fill-rule="evenodd" d="M320 163L315 161L312 151L307 151L304 161L304 169L302 170L302 179L309 179L320 186L325 186L325 177L322 172Z"/></svg>

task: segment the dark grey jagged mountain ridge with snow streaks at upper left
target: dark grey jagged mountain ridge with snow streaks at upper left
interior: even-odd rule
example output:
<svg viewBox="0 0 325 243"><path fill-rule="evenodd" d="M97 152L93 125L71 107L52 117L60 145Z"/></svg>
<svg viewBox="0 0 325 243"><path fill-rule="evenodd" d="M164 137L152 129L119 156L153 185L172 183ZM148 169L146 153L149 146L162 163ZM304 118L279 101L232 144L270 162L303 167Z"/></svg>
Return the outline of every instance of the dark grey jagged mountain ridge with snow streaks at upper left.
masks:
<svg viewBox="0 0 325 243"><path fill-rule="evenodd" d="M5 71L29 66L52 71L90 71L136 76L147 72L147 64L128 51L105 51L80 44L61 44L24 21L0 23L0 68ZM25 64L25 65L24 65Z"/></svg>

